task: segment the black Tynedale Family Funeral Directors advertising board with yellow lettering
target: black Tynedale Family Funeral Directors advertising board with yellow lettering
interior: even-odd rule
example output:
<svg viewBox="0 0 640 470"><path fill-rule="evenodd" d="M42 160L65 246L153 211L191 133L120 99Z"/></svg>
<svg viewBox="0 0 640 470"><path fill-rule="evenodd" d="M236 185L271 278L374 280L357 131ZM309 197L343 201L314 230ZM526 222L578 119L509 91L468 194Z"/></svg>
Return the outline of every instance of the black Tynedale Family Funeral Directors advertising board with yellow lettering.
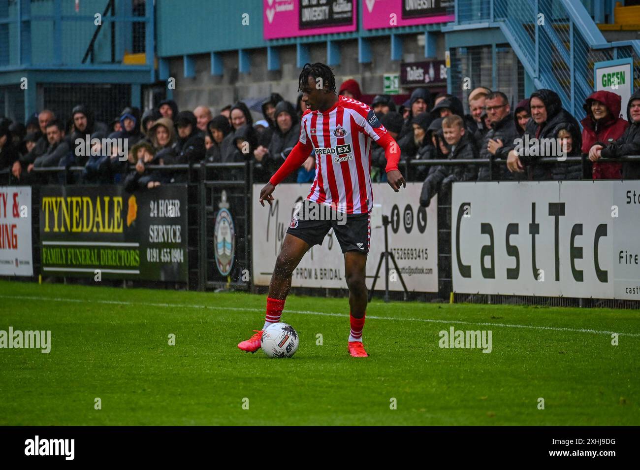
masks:
<svg viewBox="0 0 640 470"><path fill-rule="evenodd" d="M188 280L186 186L44 186L42 272Z"/></svg>

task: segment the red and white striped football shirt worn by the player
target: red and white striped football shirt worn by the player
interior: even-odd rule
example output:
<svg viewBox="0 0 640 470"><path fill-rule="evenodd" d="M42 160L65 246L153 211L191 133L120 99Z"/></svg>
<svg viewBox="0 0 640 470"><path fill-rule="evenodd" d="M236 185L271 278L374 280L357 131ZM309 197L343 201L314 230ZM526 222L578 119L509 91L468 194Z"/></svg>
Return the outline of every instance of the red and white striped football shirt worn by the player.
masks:
<svg viewBox="0 0 640 470"><path fill-rule="evenodd" d="M387 134L366 104L340 95L327 111L307 109L300 143L316 156L316 179L307 199L347 214L365 214L373 207L371 140Z"/></svg>

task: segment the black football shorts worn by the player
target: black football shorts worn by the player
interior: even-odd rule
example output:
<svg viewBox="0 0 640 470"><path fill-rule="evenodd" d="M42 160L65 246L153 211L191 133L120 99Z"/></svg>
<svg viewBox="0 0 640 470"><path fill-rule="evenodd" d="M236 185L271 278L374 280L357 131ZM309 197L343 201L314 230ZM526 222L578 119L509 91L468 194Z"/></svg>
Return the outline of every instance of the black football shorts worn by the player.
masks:
<svg viewBox="0 0 640 470"><path fill-rule="evenodd" d="M329 206L305 199L298 213L291 219L287 233L314 246L322 245L330 229L333 229L342 253L348 251L369 253L371 213L337 213Z"/></svg>

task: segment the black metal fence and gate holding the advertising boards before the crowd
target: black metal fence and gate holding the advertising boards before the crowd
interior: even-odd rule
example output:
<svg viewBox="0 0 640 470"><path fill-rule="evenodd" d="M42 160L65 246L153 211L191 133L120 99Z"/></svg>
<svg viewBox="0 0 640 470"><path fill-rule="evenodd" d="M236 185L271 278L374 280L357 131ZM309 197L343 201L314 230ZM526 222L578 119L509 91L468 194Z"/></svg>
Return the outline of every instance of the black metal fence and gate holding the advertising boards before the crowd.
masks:
<svg viewBox="0 0 640 470"><path fill-rule="evenodd" d="M638 161L640 156L628 156L620 159L600 159L607 161ZM557 158L540 158L541 165L558 163ZM581 163L588 165L585 157L567 157L563 163ZM438 165L489 165L497 168L504 165L504 161L490 159L431 159L403 161L401 168L407 175L407 180L415 181L419 174L419 167ZM184 172L188 187L188 254L189 254L189 282L188 289L244 289L247 291L264 291L264 287L253 286L251 248L251 196L253 189L254 170L259 170L259 164L253 161L247 163L200 163L195 165L157 165L149 166L150 170L161 172ZM69 181L68 175L81 172L82 166L67 168L33 168L35 172L58 172L64 175L64 181ZM490 171L491 175L493 171ZM0 172L0 184L11 184L10 170ZM15 184L15 182L13 182ZM33 186L33 264L34 272L40 272L40 207L39 188ZM216 213L221 208L228 208L236 222L236 255L234 268L226 277L215 268L213 225ZM67 279L63 278L64 282ZM132 285L158 286L157 282L129 281ZM179 287L170 283L168 288ZM383 284L383 283L382 283ZM346 289L294 289L300 293L311 295L335 296L344 295ZM403 293L391 293L391 298L401 300ZM454 293L452 286L451 263L451 197L444 193L438 197L438 292L411 293L409 300L426 302L472 302L478 304L532 304L548 306L575 307L604 307L604 308L640 308L640 301L616 299L586 299L545 296L513 296L513 295L484 295Z"/></svg>

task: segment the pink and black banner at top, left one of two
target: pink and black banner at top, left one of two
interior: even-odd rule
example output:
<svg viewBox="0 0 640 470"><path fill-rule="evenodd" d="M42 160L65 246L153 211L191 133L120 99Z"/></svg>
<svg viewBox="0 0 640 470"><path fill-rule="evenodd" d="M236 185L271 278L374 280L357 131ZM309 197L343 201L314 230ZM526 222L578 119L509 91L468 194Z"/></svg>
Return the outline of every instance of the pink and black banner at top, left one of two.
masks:
<svg viewBox="0 0 640 470"><path fill-rule="evenodd" d="M358 0L263 0L263 3L265 39L356 30Z"/></svg>

